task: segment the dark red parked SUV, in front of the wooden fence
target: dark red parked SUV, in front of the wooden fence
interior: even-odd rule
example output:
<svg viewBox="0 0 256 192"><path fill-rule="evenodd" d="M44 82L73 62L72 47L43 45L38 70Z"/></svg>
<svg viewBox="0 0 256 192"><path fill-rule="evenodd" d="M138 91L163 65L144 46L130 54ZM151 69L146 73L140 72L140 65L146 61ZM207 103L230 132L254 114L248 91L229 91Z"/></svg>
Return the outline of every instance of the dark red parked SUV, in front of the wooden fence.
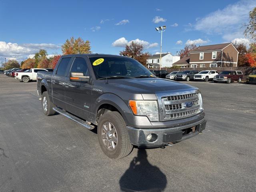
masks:
<svg viewBox="0 0 256 192"><path fill-rule="evenodd" d="M216 75L213 78L214 82L226 82L231 83L233 81L237 81L240 83L243 79L242 71L222 71L220 74Z"/></svg>

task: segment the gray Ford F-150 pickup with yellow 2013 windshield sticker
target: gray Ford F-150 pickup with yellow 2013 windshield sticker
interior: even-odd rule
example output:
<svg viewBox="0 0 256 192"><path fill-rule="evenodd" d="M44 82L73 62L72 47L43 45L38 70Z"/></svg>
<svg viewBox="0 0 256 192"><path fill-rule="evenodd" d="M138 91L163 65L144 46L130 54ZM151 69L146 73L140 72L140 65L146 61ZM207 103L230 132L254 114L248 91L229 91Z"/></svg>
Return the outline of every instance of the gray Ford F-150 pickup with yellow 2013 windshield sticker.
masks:
<svg viewBox="0 0 256 192"><path fill-rule="evenodd" d="M156 78L136 60L106 54L62 56L53 72L38 72L37 92L46 116L58 112L89 130L110 158L133 146L173 145L205 129L201 93Z"/></svg>

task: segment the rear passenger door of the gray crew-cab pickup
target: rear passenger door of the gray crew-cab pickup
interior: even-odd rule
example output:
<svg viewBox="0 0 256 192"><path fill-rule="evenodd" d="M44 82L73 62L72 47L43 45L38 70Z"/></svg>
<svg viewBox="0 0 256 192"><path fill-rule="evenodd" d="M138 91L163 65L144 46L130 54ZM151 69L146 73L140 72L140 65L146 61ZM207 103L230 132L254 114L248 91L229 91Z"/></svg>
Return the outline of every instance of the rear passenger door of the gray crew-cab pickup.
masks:
<svg viewBox="0 0 256 192"><path fill-rule="evenodd" d="M57 70L52 74L52 99L54 104L65 109L65 78L67 76L68 67L72 57L64 57L61 59Z"/></svg>

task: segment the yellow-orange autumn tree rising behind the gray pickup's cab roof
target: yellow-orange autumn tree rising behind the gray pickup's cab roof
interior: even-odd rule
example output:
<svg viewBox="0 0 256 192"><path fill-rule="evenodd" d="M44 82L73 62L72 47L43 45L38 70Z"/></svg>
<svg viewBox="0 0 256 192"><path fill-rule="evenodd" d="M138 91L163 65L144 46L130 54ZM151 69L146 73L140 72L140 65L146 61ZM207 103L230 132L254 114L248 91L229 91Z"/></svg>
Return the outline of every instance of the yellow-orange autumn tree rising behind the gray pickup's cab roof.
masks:
<svg viewBox="0 0 256 192"><path fill-rule="evenodd" d="M80 37L74 39L71 37L70 40L66 40L66 42L61 46L62 54L88 54L91 53L90 42L84 40Z"/></svg>

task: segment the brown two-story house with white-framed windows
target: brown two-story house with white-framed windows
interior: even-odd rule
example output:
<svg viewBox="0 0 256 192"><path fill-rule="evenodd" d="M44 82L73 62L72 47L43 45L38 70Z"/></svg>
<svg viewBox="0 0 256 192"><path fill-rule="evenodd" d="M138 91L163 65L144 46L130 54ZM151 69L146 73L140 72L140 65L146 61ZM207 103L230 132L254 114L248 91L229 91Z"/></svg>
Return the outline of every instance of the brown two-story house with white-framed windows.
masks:
<svg viewBox="0 0 256 192"><path fill-rule="evenodd" d="M238 50L232 43L199 46L190 51L189 66L200 67L236 67Z"/></svg>

